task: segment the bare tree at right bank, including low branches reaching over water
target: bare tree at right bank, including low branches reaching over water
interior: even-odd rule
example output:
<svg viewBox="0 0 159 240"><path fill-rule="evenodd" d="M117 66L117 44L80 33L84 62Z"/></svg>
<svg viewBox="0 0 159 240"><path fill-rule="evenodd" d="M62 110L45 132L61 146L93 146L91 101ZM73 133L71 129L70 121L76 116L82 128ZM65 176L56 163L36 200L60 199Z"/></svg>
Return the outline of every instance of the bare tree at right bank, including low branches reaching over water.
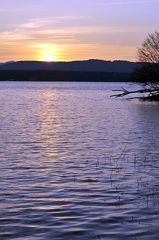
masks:
<svg viewBox="0 0 159 240"><path fill-rule="evenodd" d="M130 76L130 81L141 85L139 93L148 93L144 99L159 101L159 32L148 34L137 52L138 67ZM114 96L121 97L130 93L126 89ZM136 93L136 91L135 91Z"/></svg>

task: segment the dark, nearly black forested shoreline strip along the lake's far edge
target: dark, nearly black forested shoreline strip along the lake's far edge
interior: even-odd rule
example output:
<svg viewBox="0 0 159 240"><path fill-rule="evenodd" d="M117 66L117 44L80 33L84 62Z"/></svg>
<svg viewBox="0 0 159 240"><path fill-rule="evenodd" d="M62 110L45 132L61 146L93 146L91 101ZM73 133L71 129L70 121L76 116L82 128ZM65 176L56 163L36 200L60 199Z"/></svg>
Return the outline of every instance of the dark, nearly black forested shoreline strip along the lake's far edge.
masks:
<svg viewBox="0 0 159 240"><path fill-rule="evenodd" d="M0 81L128 82L130 73L0 70Z"/></svg>

